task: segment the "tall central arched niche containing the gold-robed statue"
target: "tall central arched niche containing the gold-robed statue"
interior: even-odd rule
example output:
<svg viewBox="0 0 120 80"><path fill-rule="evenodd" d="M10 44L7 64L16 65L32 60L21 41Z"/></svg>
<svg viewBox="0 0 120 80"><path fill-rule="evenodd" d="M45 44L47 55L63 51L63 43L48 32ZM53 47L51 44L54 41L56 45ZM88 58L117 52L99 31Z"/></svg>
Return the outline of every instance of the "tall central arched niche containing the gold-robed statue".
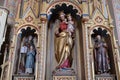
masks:
<svg viewBox="0 0 120 80"><path fill-rule="evenodd" d="M66 4L56 5L51 12L48 21L46 80L57 79L56 76L74 76L84 80L81 16L77 15L78 10L73 9L73 5Z"/></svg>

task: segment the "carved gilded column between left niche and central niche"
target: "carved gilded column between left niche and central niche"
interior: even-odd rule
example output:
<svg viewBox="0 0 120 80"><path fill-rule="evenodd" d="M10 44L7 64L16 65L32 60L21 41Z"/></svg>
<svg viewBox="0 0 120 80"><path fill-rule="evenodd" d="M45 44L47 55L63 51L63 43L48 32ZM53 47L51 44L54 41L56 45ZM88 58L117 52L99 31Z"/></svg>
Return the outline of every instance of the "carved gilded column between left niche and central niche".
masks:
<svg viewBox="0 0 120 80"><path fill-rule="evenodd" d="M40 56L39 56L39 78L38 80L45 80L45 62L46 62L46 39L47 39L47 18L46 15L41 16L41 42L40 42Z"/></svg>

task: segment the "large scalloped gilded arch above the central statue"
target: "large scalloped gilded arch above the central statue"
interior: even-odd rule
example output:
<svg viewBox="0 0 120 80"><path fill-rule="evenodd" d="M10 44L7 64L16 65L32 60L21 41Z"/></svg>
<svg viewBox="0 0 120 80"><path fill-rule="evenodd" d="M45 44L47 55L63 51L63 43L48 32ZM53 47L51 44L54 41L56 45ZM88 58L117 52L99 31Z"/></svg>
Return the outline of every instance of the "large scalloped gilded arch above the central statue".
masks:
<svg viewBox="0 0 120 80"><path fill-rule="evenodd" d="M52 3L46 10L47 14L48 15L52 14L51 9L55 9L56 5L61 6L62 4L66 4L67 6L72 5L73 9L76 9L78 11L77 15L81 16L82 9L78 5L76 5L76 4L74 4L73 2L70 2L70 1L56 1L56 2Z"/></svg>

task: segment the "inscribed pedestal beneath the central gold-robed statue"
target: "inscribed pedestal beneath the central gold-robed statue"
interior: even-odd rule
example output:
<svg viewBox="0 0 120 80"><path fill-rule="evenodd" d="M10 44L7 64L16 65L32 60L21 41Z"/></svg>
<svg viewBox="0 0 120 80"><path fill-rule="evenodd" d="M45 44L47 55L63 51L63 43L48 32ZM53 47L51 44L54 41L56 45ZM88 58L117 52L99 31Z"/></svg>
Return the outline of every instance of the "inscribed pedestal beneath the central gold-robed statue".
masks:
<svg viewBox="0 0 120 80"><path fill-rule="evenodd" d="M57 69L53 71L53 80L76 80L73 69Z"/></svg>

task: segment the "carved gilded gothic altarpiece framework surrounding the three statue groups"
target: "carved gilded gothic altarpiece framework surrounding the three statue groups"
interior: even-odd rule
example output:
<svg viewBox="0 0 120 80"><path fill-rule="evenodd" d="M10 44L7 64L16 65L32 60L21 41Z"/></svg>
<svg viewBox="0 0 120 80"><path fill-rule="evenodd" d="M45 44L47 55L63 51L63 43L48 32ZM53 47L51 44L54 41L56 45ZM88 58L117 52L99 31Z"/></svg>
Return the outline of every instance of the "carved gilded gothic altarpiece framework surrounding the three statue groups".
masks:
<svg viewBox="0 0 120 80"><path fill-rule="evenodd" d="M26 80L120 79L120 56L108 5L103 8L104 5L101 5L98 0L99 6L95 5L94 1L87 2L87 0L21 1L23 2L19 2L15 18L14 34L9 48L9 61L4 61L3 65L2 80L21 78ZM58 64L54 48L55 21L59 19L58 13L62 10L66 14L71 13L75 21L74 47L71 54L72 65L70 66L73 72L70 73L65 70L66 68L63 71L55 71ZM109 46L111 71L107 76L95 72L94 40L99 34ZM21 44L23 38L30 35L33 39L37 38L34 44L36 54L33 72L32 74L19 73ZM5 75L6 78L3 78Z"/></svg>

